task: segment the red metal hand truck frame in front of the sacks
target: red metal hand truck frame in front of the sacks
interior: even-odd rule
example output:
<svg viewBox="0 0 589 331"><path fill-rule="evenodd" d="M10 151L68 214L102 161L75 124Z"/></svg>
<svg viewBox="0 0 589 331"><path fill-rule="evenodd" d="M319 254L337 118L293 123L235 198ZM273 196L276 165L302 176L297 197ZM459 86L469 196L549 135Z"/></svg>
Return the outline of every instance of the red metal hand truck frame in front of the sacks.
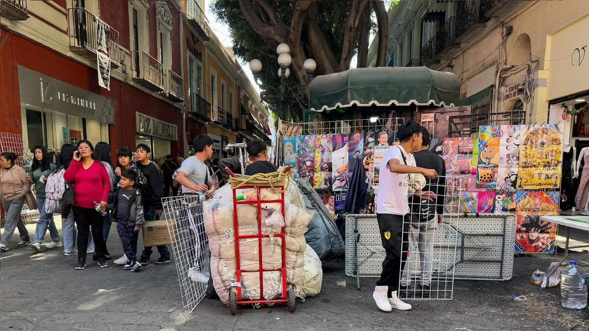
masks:
<svg viewBox="0 0 589 331"><path fill-rule="evenodd" d="M284 168L284 173L290 171L290 166ZM233 172L226 168L229 172L231 177L235 177ZM247 189L247 188L254 188L256 190L257 199L256 200L240 200L237 201L237 194L236 190ZM262 269L262 239L263 238L270 238L270 234L262 234L262 203L280 203L280 209L282 213L282 217L284 219L284 187L281 186L280 190L282 193L280 194L279 200L262 200L260 195L260 190L262 188L270 188L270 186L241 186L233 190L233 226L235 230L235 254L236 254L236 262L237 262L237 304L245 304L245 303L260 303L261 306L264 306L265 303L283 303L287 304L289 302L286 290L286 259L284 257L284 251L286 250L286 232L285 227L282 227L280 233L272 234L272 237L279 237L282 240L282 267L276 270L265 270ZM258 226L258 233L250 236L240 236L239 235L239 224L237 220L237 205L239 204L255 204L257 206L257 226ZM255 271L260 274L260 300L243 300L241 299L241 273L254 273L254 272L247 272L240 269L240 261L239 261L239 240L240 239L257 239L258 240L258 250L260 252L260 259L259 259L259 271ZM281 272L282 274L282 299L276 300L264 300L264 279L263 273L264 272Z"/></svg>

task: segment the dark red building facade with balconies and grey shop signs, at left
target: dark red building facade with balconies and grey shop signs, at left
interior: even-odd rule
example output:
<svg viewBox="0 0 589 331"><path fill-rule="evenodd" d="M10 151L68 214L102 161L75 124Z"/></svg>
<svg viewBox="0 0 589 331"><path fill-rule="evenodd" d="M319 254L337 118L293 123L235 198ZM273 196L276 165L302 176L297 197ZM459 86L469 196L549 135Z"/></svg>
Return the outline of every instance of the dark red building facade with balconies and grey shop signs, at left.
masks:
<svg viewBox="0 0 589 331"><path fill-rule="evenodd" d="M157 161L184 154L177 1L0 5L3 137L25 153L88 139L114 150L147 143Z"/></svg>

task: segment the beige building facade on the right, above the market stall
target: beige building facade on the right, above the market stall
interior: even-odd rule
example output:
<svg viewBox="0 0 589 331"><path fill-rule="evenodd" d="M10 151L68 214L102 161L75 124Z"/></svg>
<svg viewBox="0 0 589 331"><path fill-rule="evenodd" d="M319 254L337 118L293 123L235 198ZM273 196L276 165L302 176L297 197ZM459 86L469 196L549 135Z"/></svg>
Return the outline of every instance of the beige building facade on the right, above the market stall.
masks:
<svg viewBox="0 0 589 331"><path fill-rule="evenodd" d="M454 72L473 126L563 123L578 137L583 117L567 118L565 108L589 101L589 37L575 33L588 20L582 0L400 1L389 11L388 65Z"/></svg>

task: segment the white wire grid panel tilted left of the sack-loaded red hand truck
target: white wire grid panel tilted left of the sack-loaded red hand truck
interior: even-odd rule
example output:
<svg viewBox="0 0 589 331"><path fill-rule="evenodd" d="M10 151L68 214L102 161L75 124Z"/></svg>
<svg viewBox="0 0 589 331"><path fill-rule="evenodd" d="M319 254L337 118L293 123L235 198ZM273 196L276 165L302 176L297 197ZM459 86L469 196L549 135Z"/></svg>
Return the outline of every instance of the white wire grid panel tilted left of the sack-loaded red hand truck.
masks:
<svg viewBox="0 0 589 331"><path fill-rule="evenodd" d="M192 312L207 293L210 276L209 237L203 221L204 196L167 197L161 201L168 220L182 303Z"/></svg>

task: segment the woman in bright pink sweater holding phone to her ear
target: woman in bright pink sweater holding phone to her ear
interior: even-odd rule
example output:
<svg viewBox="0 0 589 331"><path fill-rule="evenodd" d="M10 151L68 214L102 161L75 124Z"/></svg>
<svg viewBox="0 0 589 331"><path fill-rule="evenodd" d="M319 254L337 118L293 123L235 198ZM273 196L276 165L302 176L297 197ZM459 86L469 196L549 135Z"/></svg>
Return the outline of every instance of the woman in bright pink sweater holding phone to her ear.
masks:
<svg viewBox="0 0 589 331"><path fill-rule="evenodd" d="M94 147L90 141L82 140L78 143L78 150L74 152L74 160L64 173L64 180L74 183L72 211L78 226L78 264L75 269L82 270L86 266L86 249L90 230L92 230L96 246L94 260L98 261L98 266L108 267L108 264L104 262L104 237L102 237L104 216L96 208L100 202L100 210L106 211L111 183L102 163L94 160Z"/></svg>

